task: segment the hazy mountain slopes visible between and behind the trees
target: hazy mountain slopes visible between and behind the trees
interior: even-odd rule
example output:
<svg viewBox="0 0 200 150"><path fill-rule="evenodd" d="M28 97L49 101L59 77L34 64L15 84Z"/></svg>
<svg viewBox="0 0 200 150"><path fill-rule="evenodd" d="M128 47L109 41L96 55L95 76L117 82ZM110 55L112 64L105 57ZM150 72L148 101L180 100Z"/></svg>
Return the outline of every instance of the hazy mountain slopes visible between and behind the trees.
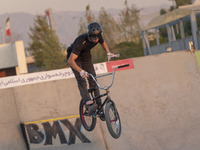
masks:
<svg viewBox="0 0 200 150"><path fill-rule="evenodd" d="M142 8L140 11L141 24L145 26L152 18L159 15L160 8L169 8L169 6L154 6ZM106 10L109 14L117 18L121 10L109 9ZM98 16L98 12L94 12L95 16ZM56 32L60 41L69 45L73 42L74 38L77 36L79 29L80 17L84 17L85 12L73 12L73 11L63 11L63 12L53 12ZM33 26L34 15L24 12L3 14L0 15L0 27L5 27L5 21L7 17L10 17L11 34L14 36L13 39L23 40L25 47L28 46L29 42L29 30ZM3 43L2 32L0 34L0 43Z"/></svg>

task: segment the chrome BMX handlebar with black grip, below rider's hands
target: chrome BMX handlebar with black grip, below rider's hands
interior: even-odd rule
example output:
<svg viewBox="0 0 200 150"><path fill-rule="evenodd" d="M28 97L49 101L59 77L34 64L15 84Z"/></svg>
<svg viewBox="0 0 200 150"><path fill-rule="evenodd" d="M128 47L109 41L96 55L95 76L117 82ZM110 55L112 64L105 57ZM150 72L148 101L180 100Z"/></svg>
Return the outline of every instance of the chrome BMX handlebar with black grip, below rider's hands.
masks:
<svg viewBox="0 0 200 150"><path fill-rule="evenodd" d="M96 76L96 77L94 77L94 76L93 76L92 74L90 74L90 73L88 73L88 75L92 77L92 79L95 81L95 83L97 84L97 86L98 86L100 89L102 89L102 90L107 90L107 89L109 89L109 88L113 85L115 71L116 71L117 69L119 69L119 68L128 67L128 66L129 66L129 64L117 66L117 67L114 68L114 70L113 70L111 73L99 75L99 76ZM104 86L104 87L100 86L99 83L97 82L96 78L100 78L100 77L104 77L104 76L108 76L108 75L112 75L112 80L111 80L110 85L109 85L109 86Z"/></svg>

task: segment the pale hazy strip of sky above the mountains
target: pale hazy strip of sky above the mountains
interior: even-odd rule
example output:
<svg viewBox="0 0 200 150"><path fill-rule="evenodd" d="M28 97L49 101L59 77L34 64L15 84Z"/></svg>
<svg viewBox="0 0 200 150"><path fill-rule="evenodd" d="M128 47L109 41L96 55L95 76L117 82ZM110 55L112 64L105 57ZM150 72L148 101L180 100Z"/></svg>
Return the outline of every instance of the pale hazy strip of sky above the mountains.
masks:
<svg viewBox="0 0 200 150"><path fill-rule="evenodd" d="M47 8L53 11L85 11L89 4L91 10L99 11L101 7L124 8L125 0L0 0L0 14L13 12L28 12L41 14ZM135 4L138 8L161 4L172 5L170 0L127 0L128 4Z"/></svg>

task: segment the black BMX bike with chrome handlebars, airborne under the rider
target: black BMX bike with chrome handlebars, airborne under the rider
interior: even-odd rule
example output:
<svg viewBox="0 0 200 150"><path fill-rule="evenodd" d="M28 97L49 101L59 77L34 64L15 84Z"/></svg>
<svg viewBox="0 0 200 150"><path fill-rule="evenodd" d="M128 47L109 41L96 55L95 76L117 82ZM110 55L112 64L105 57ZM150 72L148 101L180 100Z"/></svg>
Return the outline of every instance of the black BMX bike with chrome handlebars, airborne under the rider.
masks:
<svg viewBox="0 0 200 150"><path fill-rule="evenodd" d="M105 121L106 121L106 125L107 125L107 128L108 128L110 135L115 139L120 137L120 135L121 135L121 121L120 121L120 117L119 117L119 113L117 111L116 105L115 105L114 101L111 99L109 89L113 85L115 71L119 68L123 68L123 67L127 67L127 66L129 66L129 64L117 66L117 67L114 68L114 70L111 73L99 75L99 76L96 76L96 77L94 77L92 74L88 74L89 76L92 77L92 79L95 81L95 83L97 85L97 87L93 87L93 88L88 89L88 92L90 93L90 95L92 97L93 104L96 103L96 100L98 98L105 97L105 99L104 99L103 103L99 107L97 107L96 111L92 115L89 115L87 113L86 102L81 100L80 107L79 107L80 119L81 119L81 123L82 123L83 127L87 131L92 131L95 128L97 117L99 117L101 119L101 117L100 117L101 113L100 112L105 110L104 111ZM112 75L110 85L109 86L103 86L103 87L100 86L100 84L97 82L96 79L100 78L100 77L105 77L105 76L108 76L108 75ZM94 95L95 88L99 88L101 90L104 90L105 93L95 97L95 95ZM103 109L104 106L105 106L105 109ZM101 120L104 121L103 119L101 119Z"/></svg>

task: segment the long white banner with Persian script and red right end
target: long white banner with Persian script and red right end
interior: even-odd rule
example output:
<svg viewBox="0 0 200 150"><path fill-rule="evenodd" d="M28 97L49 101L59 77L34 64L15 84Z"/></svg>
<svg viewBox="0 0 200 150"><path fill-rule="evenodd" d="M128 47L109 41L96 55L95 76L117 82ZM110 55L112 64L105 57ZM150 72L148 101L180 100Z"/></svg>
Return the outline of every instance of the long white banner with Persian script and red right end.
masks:
<svg viewBox="0 0 200 150"><path fill-rule="evenodd" d="M94 68L96 74L104 74L107 72L111 72L114 69L114 67L123 64L129 64L129 67L120 68L118 70L134 68L132 59L110 61L109 63L98 63L94 64ZM69 78L74 78L74 73L72 72L71 68L29 73L18 76L10 76L0 78L0 89Z"/></svg>

